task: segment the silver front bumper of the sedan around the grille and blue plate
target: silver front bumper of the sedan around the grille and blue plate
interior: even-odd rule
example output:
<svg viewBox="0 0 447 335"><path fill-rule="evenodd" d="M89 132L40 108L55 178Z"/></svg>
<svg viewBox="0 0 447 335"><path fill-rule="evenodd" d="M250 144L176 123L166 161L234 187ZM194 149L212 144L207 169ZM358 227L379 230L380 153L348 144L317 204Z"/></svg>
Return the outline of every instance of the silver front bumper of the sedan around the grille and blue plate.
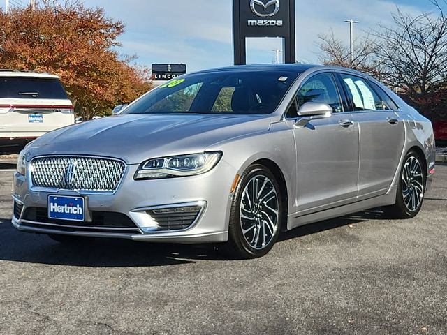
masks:
<svg viewBox="0 0 447 335"><path fill-rule="evenodd" d="M41 234L67 234L86 237L112 237L135 241L168 242L184 244L219 243L228 239L228 213L230 188L236 171L225 161L210 172L193 177L135 181L138 165L128 165L122 183L114 194L82 193L64 190L33 190L30 177L15 173L13 198L21 207L12 223L24 232ZM85 198L86 218L91 214L113 213L125 215L133 228L98 227L94 221L71 225L66 221L57 223L39 219L30 220L27 209L47 208L48 195L71 195ZM184 229L159 230L153 216L154 209L185 208L200 206L201 210L191 225ZM149 213L149 214L148 214ZM36 216L38 217L38 216ZM42 218L42 216L41 216Z"/></svg>

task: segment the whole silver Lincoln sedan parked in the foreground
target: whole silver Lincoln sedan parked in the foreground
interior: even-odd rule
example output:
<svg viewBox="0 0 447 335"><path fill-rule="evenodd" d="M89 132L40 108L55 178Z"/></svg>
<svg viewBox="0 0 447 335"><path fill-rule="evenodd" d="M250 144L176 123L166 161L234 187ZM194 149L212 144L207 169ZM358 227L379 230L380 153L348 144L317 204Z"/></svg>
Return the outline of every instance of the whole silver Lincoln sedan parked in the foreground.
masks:
<svg viewBox="0 0 447 335"><path fill-rule="evenodd" d="M430 121L372 77L218 68L27 145L13 225L60 242L213 243L256 258L300 225L372 207L416 216L434 158Z"/></svg>

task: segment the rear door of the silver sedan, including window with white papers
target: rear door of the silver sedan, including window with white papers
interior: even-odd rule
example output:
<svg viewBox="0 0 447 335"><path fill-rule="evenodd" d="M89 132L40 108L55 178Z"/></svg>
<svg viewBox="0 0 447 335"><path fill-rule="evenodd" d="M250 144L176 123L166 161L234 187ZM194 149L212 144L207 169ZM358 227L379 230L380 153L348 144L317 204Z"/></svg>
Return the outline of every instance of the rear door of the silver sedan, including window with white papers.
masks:
<svg viewBox="0 0 447 335"><path fill-rule="evenodd" d="M339 73L360 132L358 197L372 198L390 188L404 147L404 122L366 78Z"/></svg>

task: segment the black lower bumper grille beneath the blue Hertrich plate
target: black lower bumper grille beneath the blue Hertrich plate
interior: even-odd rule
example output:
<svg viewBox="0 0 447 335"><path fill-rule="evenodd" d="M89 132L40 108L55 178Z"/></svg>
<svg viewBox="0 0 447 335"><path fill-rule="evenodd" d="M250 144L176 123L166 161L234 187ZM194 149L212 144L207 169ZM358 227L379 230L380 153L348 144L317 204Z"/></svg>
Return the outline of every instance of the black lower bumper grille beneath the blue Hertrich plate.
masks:
<svg viewBox="0 0 447 335"><path fill-rule="evenodd" d="M91 222L54 220L48 218L47 207L28 207L22 216L22 225L50 228L64 232L115 232L140 233L129 216L110 211L91 211ZM24 222L24 221L25 222ZM33 221L32 223L26 221Z"/></svg>

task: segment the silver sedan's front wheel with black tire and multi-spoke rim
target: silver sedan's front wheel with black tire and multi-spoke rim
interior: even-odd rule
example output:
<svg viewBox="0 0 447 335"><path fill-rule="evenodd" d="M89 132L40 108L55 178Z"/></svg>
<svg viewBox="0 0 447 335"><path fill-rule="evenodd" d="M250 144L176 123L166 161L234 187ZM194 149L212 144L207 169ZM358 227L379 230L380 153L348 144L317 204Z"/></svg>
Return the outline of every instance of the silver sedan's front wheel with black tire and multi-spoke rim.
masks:
<svg viewBox="0 0 447 335"><path fill-rule="evenodd" d="M262 179L261 179L262 178ZM265 178L265 179L264 179ZM274 188L274 193L277 195L277 200L269 200L267 202L269 205L265 204L265 207L257 207L254 209L254 206L256 203L253 204L253 210L257 211L258 214L254 214L253 212L250 213L253 217L255 217L253 220L247 221L244 218L241 218L242 211L245 209L243 208L241 211L241 207L244 207L242 205L242 202L247 202L247 198L242 199L245 197L243 194L245 191L245 188L247 187L247 184L251 183L257 183L258 181L265 181L269 180L271 183L266 184L266 189L262 190L261 197L258 198L256 202L258 202L258 206L261 206L261 203L264 204L263 195L265 193L271 192ZM258 186L258 184L256 184ZM268 187L268 188L267 188ZM274 194L272 193L272 194ZM251 194L254 194L252 192ZM249 195L247 195L249 196ZM266 198L270 198L271 195L267 195ZM233 202L231 204L230 209L230 223L228 226L228 242L226 244L222 244L219 246L219 250L222 251L225 255L229 256L230 258L235 259L250 259L250 258L258 258L262 257L263 255L267 254L273 247L274 243L277 241L279 232L281 231L281 223L283 221L283 209L284 204L282 202L283 195L281 194L281 189L279 188L279 184L277 180L275 179L274 175L268 168L265 168L263 165L251 165L247 170L242 173L240 176L240 179L237 183L235 193L233 195ZM268 219L266 216L269 215L270 217L270 223L274 222L274 211L272 209L275 208L275 204L277 204L277 222L276 225L269 224L266 219ZM272 206L270 208L270 206ZM251 204L250 204L251 207ZM248 211L247 211L248 212ZM258 219L256 219L256 216L258 216ZM261 217L259 217L261 215ZM257 224L254 223L258 220ZM261 223L262 220L262 223ZM253 243L256 245L258 244L258 239L263 239L265 241L266 238L268 238L268 243L265 242L265 245L262 246L263 243L261 243L261 247L257 248L255 246L252 246L249 241L247 241L247 238L244 236L244 233L242 232L242 225L249 225L254 226L253 228ZM275 228L276 227L276 228ZM272 229L273 228L273 229ZM262 232L262 237L261 237ZM250 234L251 232L247 232L246 234ZM256 239L256 233L258 234L258 239ZM256 240L256 242L255 242Z"/></svg>

